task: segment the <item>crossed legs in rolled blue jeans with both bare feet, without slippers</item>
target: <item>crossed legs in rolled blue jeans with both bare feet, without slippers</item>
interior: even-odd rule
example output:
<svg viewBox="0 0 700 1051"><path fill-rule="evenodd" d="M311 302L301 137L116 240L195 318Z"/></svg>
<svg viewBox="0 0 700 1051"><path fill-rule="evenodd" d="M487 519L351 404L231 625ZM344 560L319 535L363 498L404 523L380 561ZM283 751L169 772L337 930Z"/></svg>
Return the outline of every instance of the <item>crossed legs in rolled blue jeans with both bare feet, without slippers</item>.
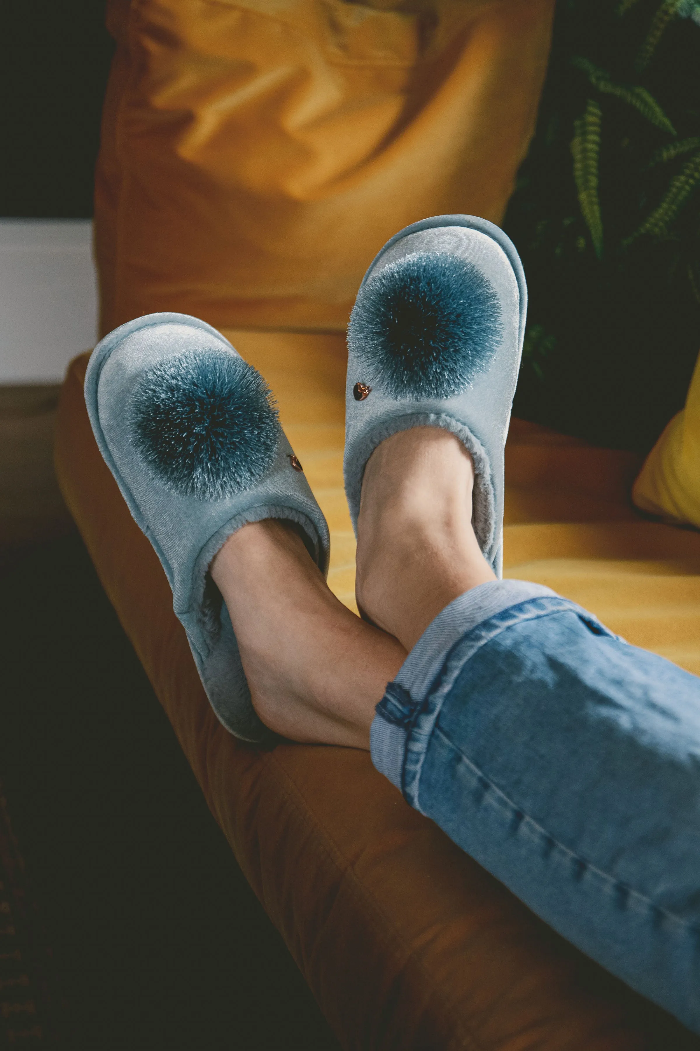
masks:
<svg viewBox="0 0 700 1051"><path fill-rule="evenodd" d="M212 574L254 700L292 738L362 746L394 676L372 725L378 768L552 927L698 1029L700 680L549 589L480 580L468 513L449 511L469 474L453 437L421 429L368 463L358 598L406 645L420 634L398 673L403 651L337 603L288 527L228 541ZM462 553L451 571L446 552Z"/></svg>

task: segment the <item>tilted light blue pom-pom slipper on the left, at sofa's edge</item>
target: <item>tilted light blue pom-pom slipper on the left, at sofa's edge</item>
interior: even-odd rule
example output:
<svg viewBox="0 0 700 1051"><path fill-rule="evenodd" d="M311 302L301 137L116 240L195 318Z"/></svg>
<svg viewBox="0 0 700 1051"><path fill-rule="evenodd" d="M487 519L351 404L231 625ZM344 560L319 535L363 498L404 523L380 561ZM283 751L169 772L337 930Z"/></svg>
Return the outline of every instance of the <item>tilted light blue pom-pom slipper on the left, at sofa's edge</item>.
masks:
<svg viewBox="0 0 700 1051"><path fill-rule="evenodd" d="M330 541L264 380L211 326L158 313L98 344L85 400L100 451L166 572L214 712L236 737L266 740L208 569L227 537L263 518L296 523L322 573Z"/></svg>

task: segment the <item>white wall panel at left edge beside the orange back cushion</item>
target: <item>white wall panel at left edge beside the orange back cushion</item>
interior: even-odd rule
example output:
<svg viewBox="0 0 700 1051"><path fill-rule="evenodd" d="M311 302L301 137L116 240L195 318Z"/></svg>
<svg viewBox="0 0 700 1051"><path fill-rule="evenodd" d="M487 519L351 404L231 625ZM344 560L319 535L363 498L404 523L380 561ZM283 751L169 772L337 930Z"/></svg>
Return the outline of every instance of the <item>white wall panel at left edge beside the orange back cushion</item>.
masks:
<svg viewBox="0 0 700 1051"><path fill-rule="evenodd" d="M51 384L97 341L92 224L0 220L0 384Z"/></svg>

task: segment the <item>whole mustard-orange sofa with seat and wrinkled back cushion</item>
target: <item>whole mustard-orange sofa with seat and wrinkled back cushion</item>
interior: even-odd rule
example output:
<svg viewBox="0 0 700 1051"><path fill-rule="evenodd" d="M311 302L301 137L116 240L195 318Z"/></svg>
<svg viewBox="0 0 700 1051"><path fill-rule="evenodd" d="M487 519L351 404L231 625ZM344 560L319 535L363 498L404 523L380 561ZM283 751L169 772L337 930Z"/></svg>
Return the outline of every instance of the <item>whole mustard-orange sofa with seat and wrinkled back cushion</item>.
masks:
<svg viewBox="0 0 700 1051"><path fill-rule="evenodd" d="M193 312L260 370L328 519L331 586L349 605L342 330L355 289L407 222L500 220L532 131L552 6L109 5L118 53L96 197L104 329ZM64 497L213 815L341 1045L700 1048L411 810L368 755L259 750L224 729L94 445L85 366L86 355L72 363L61 395ZM505 573L700 673L700 535L633 509L639 466L514 420Z"/></svg>

